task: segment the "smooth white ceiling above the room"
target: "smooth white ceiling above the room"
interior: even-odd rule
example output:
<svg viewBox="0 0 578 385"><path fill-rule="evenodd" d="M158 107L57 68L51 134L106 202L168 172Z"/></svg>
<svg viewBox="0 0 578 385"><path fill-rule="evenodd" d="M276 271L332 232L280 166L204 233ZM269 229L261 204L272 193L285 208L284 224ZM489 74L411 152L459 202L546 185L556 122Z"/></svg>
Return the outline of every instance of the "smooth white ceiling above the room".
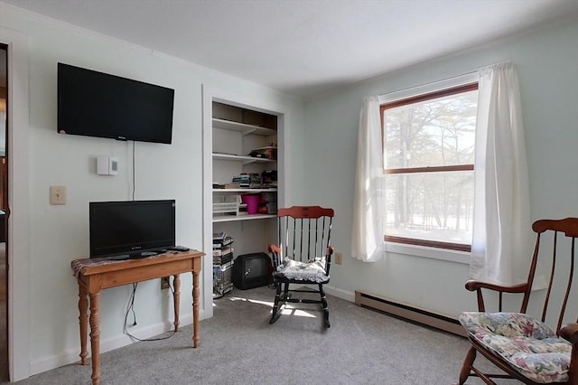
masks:
<svg viewBox="0 0 578 385"><path fill-rule="evenodd" d="M578 0L0 2L302 98L578 16Z"/></svg>

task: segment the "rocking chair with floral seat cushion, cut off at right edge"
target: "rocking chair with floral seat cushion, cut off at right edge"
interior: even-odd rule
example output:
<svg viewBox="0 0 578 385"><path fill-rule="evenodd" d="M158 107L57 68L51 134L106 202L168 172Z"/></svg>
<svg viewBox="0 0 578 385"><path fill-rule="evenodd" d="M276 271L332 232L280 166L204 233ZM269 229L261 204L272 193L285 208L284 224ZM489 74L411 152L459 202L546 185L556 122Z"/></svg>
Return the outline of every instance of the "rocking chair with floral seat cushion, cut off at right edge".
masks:
<svg viewBox="0 0 578 385"><path fill-rule="evenodd" d="M527 283L508 287L475 280L466 283L468 290L477 293L479 312L460 315L460 322L471 342L461 368L460 385L470 376L480 377L487 384L495 384L492 378L512 378L526 384L578 384L578 320L575 324L562 325L566 305L570 304L573 310L576 309L577 290L574 288L572 291L572 286L576 280L573 274L575 250L578 247L575 244L578 238L578 218L536 221L532 229L536 232L536 247ZM536 266L544 262L550 267L550 277L542 317L537 320L526 312ZM499 293L499 313L485 312L482 289ZM502 312L504 293L524 295L519 313ZM553 310L558 312L548 313ZM553 318L556 326L550 329L545 321ZM473 362L477 352L506 374L488 374L475 368Z"/></svg>

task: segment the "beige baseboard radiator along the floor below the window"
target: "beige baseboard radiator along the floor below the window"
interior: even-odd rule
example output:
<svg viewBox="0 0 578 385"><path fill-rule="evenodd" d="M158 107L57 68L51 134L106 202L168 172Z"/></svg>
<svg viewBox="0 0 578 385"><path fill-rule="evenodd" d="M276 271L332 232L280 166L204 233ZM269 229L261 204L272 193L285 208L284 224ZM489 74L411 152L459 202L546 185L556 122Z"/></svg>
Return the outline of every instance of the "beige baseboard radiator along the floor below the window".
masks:
<svg viewBox="0 0 578 385"><path fill-rule="evenodd" d="M413 306L400 304L391 299L376 296L374 294L368 294L356 290L355 305L371 310L377 310L378 312L387 315L394 315L416 324L423 324L425 326L443 330L444 332L454 333L461 335L462 337L466 336L463 327L461 327L461 324L457 319L446 315L438 315Z"/></svg>

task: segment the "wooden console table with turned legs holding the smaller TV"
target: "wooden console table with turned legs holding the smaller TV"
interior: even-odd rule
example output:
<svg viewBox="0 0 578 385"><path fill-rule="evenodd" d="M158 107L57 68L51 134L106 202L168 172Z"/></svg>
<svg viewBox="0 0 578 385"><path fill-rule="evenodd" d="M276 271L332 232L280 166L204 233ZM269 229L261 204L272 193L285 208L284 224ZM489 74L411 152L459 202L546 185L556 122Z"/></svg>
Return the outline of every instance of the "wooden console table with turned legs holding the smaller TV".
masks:
<svg viewBox="0 0 578 385"><path fill-rule="evenodd" d="M179 302L181 273L192 273L192 345L199 346L199 273L204 253L198 250L167 252L165 254L126 260L106 258L76 259L71 263L79 282L80 363L88 364L87 332L90 297L90 348L92 355L92 383L100 383L100 291L108 287L123 286L148 279L173 276L174 280L174 331L179 330Z"/></svg>

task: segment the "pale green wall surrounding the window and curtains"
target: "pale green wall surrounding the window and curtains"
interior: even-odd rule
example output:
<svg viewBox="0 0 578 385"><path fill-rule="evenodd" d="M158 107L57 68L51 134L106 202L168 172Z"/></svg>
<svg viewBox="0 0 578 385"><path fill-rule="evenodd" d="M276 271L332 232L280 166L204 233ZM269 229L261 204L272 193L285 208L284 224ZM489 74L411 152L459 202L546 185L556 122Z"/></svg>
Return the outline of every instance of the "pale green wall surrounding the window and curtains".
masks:
<svg viewBox="0 0 578 385"><path fill-rule="evenodd" d="M384 47L383 49L387 49ZM336 209L333 244L350 256L357 132L361 99L452 78L513 61L521 84L530 173L531 218L578 216L578 22L539 30L424 62L306 104L305 199ZM334 292L366 290L456 316L475 309L464 289L463 263L389 253L378 263L343 258L331 268ZM570 315L578 312L573 304Z"/></svg>

